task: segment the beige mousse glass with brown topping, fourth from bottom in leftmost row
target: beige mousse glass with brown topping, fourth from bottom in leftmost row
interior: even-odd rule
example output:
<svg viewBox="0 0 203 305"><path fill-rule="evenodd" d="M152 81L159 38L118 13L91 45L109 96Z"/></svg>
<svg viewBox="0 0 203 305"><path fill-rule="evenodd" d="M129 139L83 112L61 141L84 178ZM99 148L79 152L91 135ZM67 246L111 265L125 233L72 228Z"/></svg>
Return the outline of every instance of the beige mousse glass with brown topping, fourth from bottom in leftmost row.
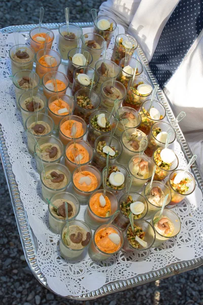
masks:
<svg viewBox="0 0 203 305"><path fill-rule="evenodd" d="M47 137L43 137L43 138L39 139L37 141L37 143L35 144L35 147L34 147L34 153L35 153L35 159L36 159L36 164L37 164L37 170L39 173L41 173L41 171L43 170L42 164L45 167L48 164L60 163L60 160L64 153L64 147L63 147L63 143L59 139L57 139L53 136L47 136ZM46 146L50 146L50 145L51 145L51 147L53 147L53 146L57 147L57 149L58 149L57 155L54 158L49 158L49 156L43 158L42 155L40 154L39 147L41 147L41 149L46 149ZM40 159L40 157L36 156L36 154L41 155L42 159ZM48 155L48 153L47 153L47 155Z"/></svg>

